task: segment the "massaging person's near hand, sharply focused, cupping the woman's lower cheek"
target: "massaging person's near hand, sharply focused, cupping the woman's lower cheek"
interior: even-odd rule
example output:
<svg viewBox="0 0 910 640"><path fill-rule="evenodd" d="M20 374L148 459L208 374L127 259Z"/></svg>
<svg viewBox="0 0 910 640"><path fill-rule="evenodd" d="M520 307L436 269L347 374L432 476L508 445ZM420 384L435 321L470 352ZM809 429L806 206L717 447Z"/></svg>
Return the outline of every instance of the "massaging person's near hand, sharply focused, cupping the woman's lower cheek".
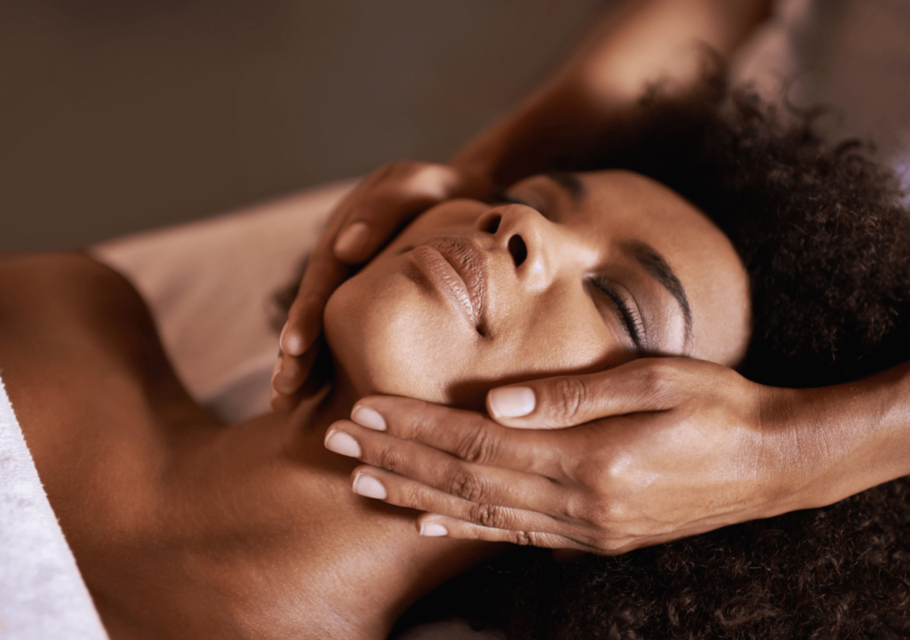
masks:
<svg viewBox="0 0 910 640"><path fill-rule="evenodd" d="M428 512L424 535L621 554L812 503L814 458L782 426L794 393L639 360L490 391L498 422L366 398L326 445L367 463L355 492Z"/></svg>

